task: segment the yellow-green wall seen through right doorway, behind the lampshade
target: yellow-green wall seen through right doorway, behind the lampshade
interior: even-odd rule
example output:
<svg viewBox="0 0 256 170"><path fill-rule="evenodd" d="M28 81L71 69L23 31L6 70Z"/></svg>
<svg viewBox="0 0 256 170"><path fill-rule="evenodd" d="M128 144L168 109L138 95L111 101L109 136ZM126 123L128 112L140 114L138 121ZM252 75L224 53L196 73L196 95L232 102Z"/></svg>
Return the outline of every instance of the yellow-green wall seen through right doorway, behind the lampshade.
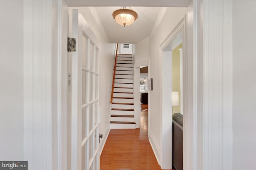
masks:
<svg viewBox="0 0 256 170"><path fill-rule="evenodd" d="M179 106L172 107L172 113L180 113L180 51L182 43L172 51L172 91L179 92Z"/></svg>

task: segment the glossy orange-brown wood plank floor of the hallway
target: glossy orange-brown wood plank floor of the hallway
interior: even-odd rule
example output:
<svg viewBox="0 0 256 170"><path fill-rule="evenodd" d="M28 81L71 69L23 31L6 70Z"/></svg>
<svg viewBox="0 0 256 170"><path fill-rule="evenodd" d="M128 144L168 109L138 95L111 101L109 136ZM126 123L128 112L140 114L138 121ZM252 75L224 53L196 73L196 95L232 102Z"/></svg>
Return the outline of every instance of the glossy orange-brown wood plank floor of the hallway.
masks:
<svg viewBox="0 0 256 170"><path fill-rule="evenodd" d="M140 128L111 129L100 156L101 170L161 170L148 141L148 105L141 107Z"/></svg>

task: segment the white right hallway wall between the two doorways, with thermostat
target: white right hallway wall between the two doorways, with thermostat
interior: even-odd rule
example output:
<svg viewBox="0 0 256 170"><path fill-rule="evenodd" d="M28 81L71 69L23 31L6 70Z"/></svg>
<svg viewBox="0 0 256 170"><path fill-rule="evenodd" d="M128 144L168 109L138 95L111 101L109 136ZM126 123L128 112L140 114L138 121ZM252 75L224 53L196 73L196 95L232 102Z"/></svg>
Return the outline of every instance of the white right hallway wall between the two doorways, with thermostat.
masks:
<svg viewBox="0 0 256 170"><path fill-rule="evenodd" d="M150 133L149 139L156 154L160 158L160 45L184 18L188 8L162 8L150 33L149 58L150 78L153 78L153 90L150 91ZM171 76L171 75L170 75Z"/></svg>

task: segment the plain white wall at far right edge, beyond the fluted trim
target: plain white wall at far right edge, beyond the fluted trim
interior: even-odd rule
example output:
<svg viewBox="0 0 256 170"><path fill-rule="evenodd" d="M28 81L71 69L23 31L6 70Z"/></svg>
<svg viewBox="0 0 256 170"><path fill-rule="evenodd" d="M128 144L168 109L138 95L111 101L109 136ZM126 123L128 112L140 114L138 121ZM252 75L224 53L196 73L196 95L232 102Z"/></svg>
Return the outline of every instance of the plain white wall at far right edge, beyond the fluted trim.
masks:
<svg viewBox="0 0 256 170"><path fill-rule="evenodd" d="M233 0L233 170L255 170L256 1Z"/></svg>

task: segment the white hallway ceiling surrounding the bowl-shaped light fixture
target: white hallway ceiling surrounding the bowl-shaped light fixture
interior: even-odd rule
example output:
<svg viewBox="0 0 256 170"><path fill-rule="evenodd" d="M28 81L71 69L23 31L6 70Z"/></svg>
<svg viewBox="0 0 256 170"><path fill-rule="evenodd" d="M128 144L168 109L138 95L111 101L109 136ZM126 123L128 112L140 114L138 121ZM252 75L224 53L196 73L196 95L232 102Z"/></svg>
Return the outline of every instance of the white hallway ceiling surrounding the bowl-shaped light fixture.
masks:
<svg viewBox="0 0 256 170"><path fill-rule="evenodd" d="M138 43L149 36L160 7L132 7L138 19L126 27L119 25L112 13L120 7L95 7L111 43Z"/></svg>

